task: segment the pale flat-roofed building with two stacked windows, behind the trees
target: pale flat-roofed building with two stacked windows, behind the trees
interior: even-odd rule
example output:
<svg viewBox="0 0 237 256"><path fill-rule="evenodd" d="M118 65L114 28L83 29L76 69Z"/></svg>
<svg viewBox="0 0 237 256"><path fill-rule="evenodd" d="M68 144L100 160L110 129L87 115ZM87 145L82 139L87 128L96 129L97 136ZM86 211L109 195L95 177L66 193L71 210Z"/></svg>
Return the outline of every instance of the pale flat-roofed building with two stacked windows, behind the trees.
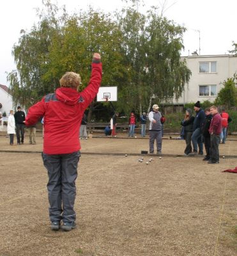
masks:
<svg viewBox="0 0 237 256"><path fill-rule="evenodd" d="M237 72L237 57L233 55L199 56L194 52L192 56L181 58L186 60L192 76L189 83L185 84L185 90L180 99L173 100L174 104L197 102L197 100L213 102L223 88L221 83Z"/></svg>

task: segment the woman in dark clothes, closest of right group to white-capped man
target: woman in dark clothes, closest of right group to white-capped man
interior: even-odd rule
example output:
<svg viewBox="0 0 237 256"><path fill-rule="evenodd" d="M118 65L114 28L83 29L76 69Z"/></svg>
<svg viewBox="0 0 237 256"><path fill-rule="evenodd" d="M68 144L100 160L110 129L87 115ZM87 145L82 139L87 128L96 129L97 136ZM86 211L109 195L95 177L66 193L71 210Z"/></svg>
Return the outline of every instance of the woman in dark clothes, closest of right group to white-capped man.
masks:
<svg viewBox="0 0 237 256"><path fill-rule="evenodd" d="M184 139L186 142L185 156L192 152L191 136L194 129L194 116L192 116L192 109L188 108L185 113L185 118L181 122L184 130Z"/></svg>

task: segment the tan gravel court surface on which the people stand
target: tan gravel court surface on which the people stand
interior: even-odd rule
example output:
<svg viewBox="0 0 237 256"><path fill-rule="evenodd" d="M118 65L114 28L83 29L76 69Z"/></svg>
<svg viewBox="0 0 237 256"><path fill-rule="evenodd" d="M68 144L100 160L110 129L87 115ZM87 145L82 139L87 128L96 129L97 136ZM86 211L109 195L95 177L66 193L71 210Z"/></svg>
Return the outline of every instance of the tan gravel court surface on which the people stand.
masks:
<svg viewBox="0 0 237 256"><path fill-rule="evenodd" d="M146 164L151 156L139 163L138 154L148 138L82 140L77 228L53 232L42 138L8 140L0 136L1 256L237 255L237 174L222 173L237 166L237 141L220 145L220 164L207 164L171 157L185 141L164 140L164 156Z"/></svg>

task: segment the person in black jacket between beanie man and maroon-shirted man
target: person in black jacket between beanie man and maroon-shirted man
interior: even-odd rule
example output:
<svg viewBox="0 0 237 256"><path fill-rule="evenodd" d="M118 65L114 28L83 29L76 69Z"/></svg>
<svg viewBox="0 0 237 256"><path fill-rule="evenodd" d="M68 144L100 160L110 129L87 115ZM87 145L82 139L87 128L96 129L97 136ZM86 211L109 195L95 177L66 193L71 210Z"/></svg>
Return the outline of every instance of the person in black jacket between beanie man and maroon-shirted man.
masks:
<svg viewBox="0 0 237 256"><path fill-rule="evenodd" d="M209 129L210 129L212 115L210 111L211 111L210 108L205 109L206 118L204 120L203 129L202 129L204 146L206 150L206 156L203 158L203 161L208 161L211 156L211 137L210 137Z"/></svg>

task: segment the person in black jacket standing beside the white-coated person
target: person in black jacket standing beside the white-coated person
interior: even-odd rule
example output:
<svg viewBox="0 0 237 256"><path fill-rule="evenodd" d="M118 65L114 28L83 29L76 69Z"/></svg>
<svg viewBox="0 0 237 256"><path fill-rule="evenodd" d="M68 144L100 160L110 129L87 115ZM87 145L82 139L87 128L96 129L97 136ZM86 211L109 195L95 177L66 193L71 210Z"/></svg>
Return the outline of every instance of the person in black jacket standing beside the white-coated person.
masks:
<svg viewBox="0 0 237 256"><path fill-rule="evenodd" d="M15 127L17 132L17 144L24 144L24 135L25 135L25 124L26 115L24 111L21 110L20 106L17 107L17 111L14 114L15 117ZM21 138L20 138L21 136Z"/></svg>

